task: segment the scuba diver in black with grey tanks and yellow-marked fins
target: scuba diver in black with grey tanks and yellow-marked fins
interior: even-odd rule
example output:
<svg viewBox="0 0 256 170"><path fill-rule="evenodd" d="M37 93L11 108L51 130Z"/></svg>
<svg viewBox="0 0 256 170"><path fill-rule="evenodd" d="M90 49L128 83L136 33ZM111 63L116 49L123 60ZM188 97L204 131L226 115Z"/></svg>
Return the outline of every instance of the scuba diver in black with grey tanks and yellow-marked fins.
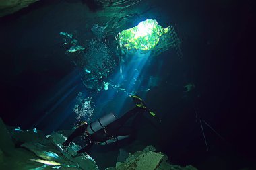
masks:
<svg viewBox="0 0 256 170"><path fill-rule="evenodd" d="M135 108L129 110L118 119L115 118L114 114L110 113L96 120L95 122L92 122L91 124L82 122L83 124L76 128L69 138L63 142L63 148L67 148L70 142L72 142L72 140L77 136L84 137L86 142L86 146L78 150L77 155L88 151L93 144L105 145L131 137L135 133L135 121L133 120L131 127L125 127L123 125L133 116L138 116L139 114L143 114L145 112L151 116L154 116L159 122L161 122L158 116L156 116L154 112L146 107L141 98L139 98L137 95L131 95L130 97L132 97L133 102L135 103Z"/></svg>

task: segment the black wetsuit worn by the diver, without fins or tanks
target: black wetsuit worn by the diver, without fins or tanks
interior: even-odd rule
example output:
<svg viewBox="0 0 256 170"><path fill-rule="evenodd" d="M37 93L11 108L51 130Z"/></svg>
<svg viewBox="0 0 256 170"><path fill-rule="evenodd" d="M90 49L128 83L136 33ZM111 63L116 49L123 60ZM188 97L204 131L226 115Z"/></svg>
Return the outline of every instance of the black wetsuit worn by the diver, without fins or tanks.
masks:
<svg viewBox="0 0 256 170"><path fill-rule="evenodd" d="M84 153L88 151L92 147L94 143L97 142L106 142L106 140L109 140L111 138L115 138L117 136L125 136L125 135L132 135L135 132L135 121L129 126L129 128L124 127L123 125L125 122L130 120L131 118L134 118L139 116L139 114L143 114L144 112L150 112L147 108L139 108L135 107L128 112L126 112L121 118L115 120L114 122L108 124L104 129L98 130L94 134L88 134L86 133L86 128L88 124L84 124L82 126L79 126L75 129L75 131L67 138L66 142L63 143L63 146L68 146L68 144L77 136L81 136L82 134L86 134L86 146L77 153ZM134 118L135 120L136 118Z"/></svg>

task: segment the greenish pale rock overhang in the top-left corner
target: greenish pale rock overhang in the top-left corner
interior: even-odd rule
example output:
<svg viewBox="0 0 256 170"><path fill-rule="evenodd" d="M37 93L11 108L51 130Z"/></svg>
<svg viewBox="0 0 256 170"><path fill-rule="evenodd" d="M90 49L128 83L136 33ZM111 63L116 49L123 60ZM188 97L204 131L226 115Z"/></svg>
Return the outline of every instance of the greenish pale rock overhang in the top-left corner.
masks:
<svg viewBox="0 0 256 170"><path fill-rule="evenodd" d="M0 1L0 17L15 13L24 7L28 7L31 3L38 0L1 0Z"/></svg>

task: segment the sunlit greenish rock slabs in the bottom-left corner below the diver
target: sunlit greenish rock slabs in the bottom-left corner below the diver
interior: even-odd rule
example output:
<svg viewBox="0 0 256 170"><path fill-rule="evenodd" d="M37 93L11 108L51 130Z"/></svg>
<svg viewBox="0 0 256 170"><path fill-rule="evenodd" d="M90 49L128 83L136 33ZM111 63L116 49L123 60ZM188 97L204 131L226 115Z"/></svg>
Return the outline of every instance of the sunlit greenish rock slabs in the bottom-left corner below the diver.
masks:
<svg viewBox="0 0 256 170"><path fill-rule="evenodd" d="M79 145L64 151L60 144L65 137L60 132L46 137L40 130L7 128L0 118L0 135L0 169L98 169L87 154L71 156Z"/></svg>

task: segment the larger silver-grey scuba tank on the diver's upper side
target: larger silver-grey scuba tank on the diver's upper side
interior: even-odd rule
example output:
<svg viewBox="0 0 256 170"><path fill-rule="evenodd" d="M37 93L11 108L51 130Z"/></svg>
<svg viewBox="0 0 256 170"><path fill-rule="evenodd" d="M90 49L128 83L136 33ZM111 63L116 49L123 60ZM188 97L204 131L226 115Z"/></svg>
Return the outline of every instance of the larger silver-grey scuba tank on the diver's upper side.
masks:
<svg viewBox="0 0 256 170"><path fill-rule="evenodd" d="M104 128L108 124L114 122L116 120L115 115L113 113L107 114L102 118L92 122L90 125L87 126L86 130L89 134L94 134L98 130Z"/></svg>

